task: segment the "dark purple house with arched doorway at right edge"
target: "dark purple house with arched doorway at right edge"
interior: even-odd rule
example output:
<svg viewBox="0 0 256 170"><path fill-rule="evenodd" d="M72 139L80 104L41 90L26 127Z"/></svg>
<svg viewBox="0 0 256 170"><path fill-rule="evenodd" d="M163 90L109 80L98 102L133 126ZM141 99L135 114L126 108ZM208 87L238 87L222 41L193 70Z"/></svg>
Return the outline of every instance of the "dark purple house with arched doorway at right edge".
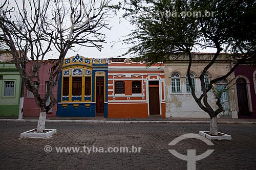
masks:
<svg viewBox="0 0 256 170"><path fill-rule="evenodd" d="M256 118L256 66L240 65L234 75L238 118Z"/></svg>

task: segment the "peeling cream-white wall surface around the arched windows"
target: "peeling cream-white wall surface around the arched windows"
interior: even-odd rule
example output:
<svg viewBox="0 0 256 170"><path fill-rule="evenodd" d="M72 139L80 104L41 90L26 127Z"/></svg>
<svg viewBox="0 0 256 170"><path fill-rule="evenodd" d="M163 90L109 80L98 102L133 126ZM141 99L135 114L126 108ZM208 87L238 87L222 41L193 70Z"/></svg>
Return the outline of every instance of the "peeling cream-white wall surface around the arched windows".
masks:
<svg viewBox="0 0 256 170"><path fill-rule="evenodd" d="M173 57L173 56L172 56ZM181 56L179 60L173 60L177 57L170 57L170 60L164 63L165 70L165 97L166 97L166 117L193 117L193 118L209 118L208 113L204 112L198 104L195 102L190 92L186 92L186 72L188 66L188 57ZM212 54L194 54L193 64L190 71L195 75L195 90L196 95L200 96L201 83L199 76L203 68L209 63L209 59L213 57ZM223 76L230 69L230 62L226 59L226 56L221 56L217 62L208 69L209 80ZM173 72L177 72L180 75L181 92L172 92L171 78ZM236 118L236 105L234 102L234 90L233 74L228 77L227 82L228 98L229 98L229 110L225 112L227 115L232 115ZM208 102L214 108L217 109L215 104L215 95L212 91L208 92ZM223 113L220 113L221 115Z"/></svg>

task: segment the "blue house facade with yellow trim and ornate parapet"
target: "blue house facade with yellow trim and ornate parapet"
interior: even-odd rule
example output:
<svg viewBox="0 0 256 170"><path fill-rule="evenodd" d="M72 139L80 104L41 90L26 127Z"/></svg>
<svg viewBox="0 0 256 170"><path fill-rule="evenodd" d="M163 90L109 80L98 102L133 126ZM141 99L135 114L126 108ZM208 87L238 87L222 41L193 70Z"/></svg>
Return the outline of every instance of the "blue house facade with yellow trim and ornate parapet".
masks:
<svg viewBox="0 0 256 170"><path fill-rule="evenodd" d="M58 83L57 116L108 117L108 59L65 59Z"/></svg>

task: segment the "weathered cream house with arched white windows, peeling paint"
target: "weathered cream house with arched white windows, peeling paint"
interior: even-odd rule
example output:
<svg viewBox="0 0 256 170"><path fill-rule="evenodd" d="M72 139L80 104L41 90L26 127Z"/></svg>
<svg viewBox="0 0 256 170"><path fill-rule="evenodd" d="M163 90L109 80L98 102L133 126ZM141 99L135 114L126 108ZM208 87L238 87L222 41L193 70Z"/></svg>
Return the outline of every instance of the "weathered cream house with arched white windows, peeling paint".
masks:
<svg viewBox="0 0 256 170"><path fill-rule="evenodd" d="M192 78L193 86L196 90L196 95L202 94L201 83L199 76L203 68L214 57L210 53L193 53L193 63L190 69L190 77ZM166 99L166 117L191 117L203 118L209 117L195 102L190 92L190 87L187 80L188 56L170 56L169 60L164 62L165 71L165 99ZM231 67L231 62L226 54L218 57L218 60L212 65L204 77L205 85L208 86L212 79L225 75ZM222 93L221 102L224 111L219 115L230 116L237 118L238 114L235 107L234 89L233 89L233 74L226 80L216 83L214 86L217 90L228 89ZM217 108L215 104L215 94L211 90L208 92L209 104Z"/></svg>

